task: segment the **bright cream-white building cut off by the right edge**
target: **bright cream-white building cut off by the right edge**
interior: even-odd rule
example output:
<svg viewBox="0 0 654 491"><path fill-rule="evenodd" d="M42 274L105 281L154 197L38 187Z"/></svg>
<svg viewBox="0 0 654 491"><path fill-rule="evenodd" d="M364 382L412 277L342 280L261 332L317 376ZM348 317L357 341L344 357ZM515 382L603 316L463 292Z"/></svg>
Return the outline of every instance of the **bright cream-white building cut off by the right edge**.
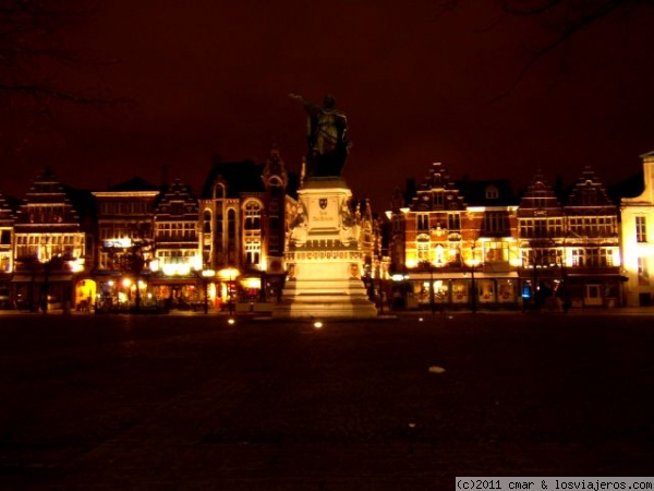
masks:
<svg viewBox="0 0 654 491"><path fill-rule="evenodd" d="M620 202L620 239L626 303L651 306L654 295L654 152L641 155L643 184L641 194Z"/></svg>

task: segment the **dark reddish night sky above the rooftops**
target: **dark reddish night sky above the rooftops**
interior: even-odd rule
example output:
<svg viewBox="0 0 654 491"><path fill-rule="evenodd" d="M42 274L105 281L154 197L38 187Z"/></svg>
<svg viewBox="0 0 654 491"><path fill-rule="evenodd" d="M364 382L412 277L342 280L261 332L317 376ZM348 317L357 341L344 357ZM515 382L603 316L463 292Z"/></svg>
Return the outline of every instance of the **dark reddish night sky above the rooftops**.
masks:
<svg viewBox="0 0 654 491"><path fill-rule="evenodd" d="M77 188L159 183L168 166L198 192L213 155L263 160L272 142L296 169L305 115L289 93L336 97L353 142L346 180L377 211L433 161L455 179L508 178L516 189L538 167L566 183L586 165L605 183L640 170L639 155L654 149L651 11L580 34L498 98L546 32L533 19L496 22L494 2L440 16L438 4L101 2L66 34L98 62L58 76L133 104L15 127L0 192L23 196L46 165Z"/></svg>

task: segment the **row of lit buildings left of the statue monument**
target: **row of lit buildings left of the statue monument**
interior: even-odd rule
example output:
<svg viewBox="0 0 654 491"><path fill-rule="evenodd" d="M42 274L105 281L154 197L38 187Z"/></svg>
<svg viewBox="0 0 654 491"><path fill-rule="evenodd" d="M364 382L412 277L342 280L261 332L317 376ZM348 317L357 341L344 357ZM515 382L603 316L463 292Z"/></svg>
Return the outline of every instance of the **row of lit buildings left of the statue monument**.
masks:
<svg viewBox="0 0 654 491"><path fill-rule="evenodd" d="M0 199L0 302L98 312L265 302L283 283L298 185L276 148L264 164L215 161L199 196L181 180L75 190L48 168L17 205Z"/></svg>

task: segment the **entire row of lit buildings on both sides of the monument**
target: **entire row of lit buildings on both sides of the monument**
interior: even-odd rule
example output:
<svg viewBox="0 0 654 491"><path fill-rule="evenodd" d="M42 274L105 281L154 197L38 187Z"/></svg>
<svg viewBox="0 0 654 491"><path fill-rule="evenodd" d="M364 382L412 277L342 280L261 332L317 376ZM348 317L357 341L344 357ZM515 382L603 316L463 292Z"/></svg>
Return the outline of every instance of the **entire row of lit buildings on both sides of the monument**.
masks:
<svg viewBox="0 0 654 491"><path fill-rule="evenodd" d="M568 189L540 171L452 180L433 164L390 209L350 203L371 298L396 308L649 306L654 285L654 153L635 192L609 194L591 168ZM19 203L0 197L0 303L7 308L270 309L302 176L277 148L263 164L215 161L198 196L180 180L76 190L46 169Z"/></svg>

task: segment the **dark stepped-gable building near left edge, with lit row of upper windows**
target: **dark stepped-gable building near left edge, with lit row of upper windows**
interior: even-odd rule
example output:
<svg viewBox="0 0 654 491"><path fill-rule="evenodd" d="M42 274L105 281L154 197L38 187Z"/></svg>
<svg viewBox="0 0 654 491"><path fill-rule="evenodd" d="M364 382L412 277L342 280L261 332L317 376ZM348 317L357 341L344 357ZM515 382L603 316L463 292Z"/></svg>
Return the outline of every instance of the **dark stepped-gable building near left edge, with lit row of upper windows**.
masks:
<svg viewBox="0 0 654 491"><path fill-rule="evenodd" d="M14 223L12 298L29 310L70 308L85 272L86 232L66 190L46 168L32 183Z"/></svg>

